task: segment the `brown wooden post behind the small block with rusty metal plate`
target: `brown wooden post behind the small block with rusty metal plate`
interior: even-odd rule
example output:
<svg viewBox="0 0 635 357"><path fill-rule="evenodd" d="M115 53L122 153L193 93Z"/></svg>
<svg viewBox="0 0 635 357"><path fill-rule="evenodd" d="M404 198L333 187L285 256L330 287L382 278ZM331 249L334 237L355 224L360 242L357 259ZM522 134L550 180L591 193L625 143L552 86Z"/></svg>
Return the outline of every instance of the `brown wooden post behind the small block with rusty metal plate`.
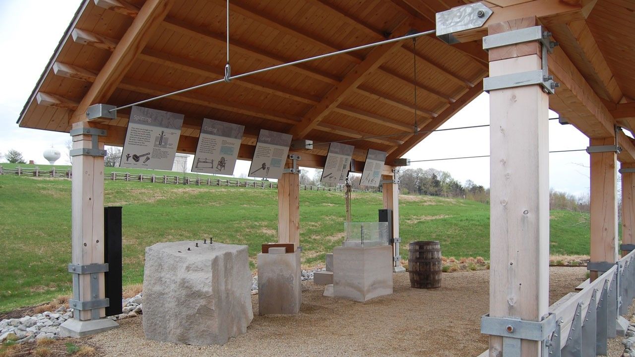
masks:
<svg viewBox="0 0 635 357"><path fill-rule="evenodd" d="M278 242L293 243L295 248L298 248L300 245L300 175L283 173L278 180L277 189Z"/></svg>

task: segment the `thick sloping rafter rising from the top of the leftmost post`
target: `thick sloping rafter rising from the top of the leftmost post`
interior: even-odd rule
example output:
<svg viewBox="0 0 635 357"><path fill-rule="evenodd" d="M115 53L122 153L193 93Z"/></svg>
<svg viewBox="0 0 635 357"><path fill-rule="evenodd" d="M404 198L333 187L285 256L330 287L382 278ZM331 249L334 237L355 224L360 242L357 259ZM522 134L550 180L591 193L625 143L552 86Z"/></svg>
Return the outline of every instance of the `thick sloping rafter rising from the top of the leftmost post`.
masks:
<svg viewBox="0 0 635 357"><path fill-rule="evenodd" d="M92 104L106 102L116 90L117 84L130 69L138 53L168 15L174 0L147 0L135 20L126 30L121 41L102 67L88 93L79 102L79 107L72 114L70 123L86 120L86 109Z"/></svg>

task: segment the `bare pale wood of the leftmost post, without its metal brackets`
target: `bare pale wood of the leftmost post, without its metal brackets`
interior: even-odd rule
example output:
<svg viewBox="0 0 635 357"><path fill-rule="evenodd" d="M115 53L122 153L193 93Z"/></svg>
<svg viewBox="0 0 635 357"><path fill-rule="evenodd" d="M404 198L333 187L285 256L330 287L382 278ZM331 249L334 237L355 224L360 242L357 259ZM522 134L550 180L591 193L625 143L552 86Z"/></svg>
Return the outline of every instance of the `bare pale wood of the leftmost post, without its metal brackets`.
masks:
<svg viewBox="0 0 635 357"><path fill-rule="evenodd" d="M90 135L72 137L73 149L93 147ZM104 149L104 143L99 143ZM104 157L74 156L72 159L71 207L72 262L73 264L104 263ZM98 299L104 299L104 273L98 274ZM79 295L77 295L79 293ZM79 292L74 299L94 300L91 297L90 274L79 275ZM114 302L116 303L116 302ZM105 309L100 309L100 317ZM81 311L76 320L90 320L90 311Z"/></svg>

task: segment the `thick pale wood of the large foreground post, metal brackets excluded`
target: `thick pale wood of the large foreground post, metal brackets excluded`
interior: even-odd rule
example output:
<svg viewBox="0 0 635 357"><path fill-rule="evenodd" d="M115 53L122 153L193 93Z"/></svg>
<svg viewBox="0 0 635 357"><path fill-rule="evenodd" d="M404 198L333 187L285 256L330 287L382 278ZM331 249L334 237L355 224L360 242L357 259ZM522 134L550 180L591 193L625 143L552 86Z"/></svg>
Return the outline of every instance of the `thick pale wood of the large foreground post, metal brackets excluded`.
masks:
<svg viewBox="0 0 635 357"><path fill-rule="evenodd" d="M489 34L537 25L535 18L488 27ZM540 47L491 49L490 76L542 69ZM536 84L490 91L490 316L540 321L549 308L549 99ZM490 357L503 339L490 336ZM505 353L506 354L506 353ZM521 340L522 357L540 342Z"/></svg>

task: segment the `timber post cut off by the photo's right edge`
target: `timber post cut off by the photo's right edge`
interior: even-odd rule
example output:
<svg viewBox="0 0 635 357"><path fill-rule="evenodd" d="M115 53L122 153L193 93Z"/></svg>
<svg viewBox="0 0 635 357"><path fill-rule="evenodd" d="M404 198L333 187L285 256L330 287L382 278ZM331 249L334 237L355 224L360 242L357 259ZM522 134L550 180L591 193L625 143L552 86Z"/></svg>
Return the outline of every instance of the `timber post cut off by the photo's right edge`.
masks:
<svg viewBox="0 0 635 357"><path fill-rule="evenodd" d="M635 164L622 163L622 257L635 249Z"/></svg>

